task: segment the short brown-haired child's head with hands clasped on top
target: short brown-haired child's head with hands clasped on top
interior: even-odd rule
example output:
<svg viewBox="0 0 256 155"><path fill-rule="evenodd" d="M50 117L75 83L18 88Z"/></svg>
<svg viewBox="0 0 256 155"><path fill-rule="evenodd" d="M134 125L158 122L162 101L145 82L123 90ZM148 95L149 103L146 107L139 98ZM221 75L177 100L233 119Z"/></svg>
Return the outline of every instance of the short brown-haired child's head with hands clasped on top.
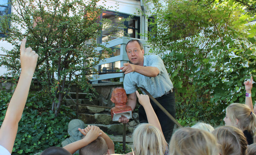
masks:
<svg viewBox="0 0 256 155"><path fill-rule="evenodd" d="M108 145L102 137L79 150L79 155L103 155L108 152Z"/></svg>

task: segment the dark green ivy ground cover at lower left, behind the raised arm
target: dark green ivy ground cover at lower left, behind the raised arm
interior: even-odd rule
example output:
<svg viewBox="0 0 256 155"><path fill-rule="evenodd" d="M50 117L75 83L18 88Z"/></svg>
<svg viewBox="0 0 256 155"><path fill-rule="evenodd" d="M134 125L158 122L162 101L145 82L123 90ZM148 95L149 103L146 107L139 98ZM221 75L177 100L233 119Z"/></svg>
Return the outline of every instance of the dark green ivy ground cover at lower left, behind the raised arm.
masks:
<svg viewBox="0 0 256 155"><path fill-rule="evenodd" d="M6 104L12 93L0 91L0 125L7 110ZM62 106L60 114L55 117L51 103L45 94L29 93L12 154L35 154L51 146L61 146L68 136L68 122L75 117L75 111Z"/></svg>

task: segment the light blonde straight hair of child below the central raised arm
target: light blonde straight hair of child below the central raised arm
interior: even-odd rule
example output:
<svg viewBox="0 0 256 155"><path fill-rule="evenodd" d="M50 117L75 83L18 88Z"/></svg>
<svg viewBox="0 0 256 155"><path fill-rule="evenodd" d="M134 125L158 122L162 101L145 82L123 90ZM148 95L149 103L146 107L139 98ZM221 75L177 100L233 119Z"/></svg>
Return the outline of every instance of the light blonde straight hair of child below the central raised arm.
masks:
<svg viewBox="0 0 256 155"><path fill-rule="evenodd" d="M136 155L162 155L166 141L161 131L152 124L141 123L133 131L133 148Z"/></svg>

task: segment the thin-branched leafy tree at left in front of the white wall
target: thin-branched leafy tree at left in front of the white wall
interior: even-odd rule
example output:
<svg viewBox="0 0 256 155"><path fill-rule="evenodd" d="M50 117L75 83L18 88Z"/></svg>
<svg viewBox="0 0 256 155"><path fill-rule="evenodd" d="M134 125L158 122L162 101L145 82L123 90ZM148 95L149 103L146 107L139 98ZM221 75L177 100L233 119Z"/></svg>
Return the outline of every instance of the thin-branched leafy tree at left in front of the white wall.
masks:
<svg viewBox="0 0 256 155"><path fill-rule="evenodd" d="M11 1L13 13L1 18L1 40L11 43L12 50L4 50L6 57L0 65L17 79L19 41L27 38L27 46L39 55L35 79L42 84L42 91L52 101L52 111L58 116L63 99L72 84L82 90L93 90L88 74L95 73L93 66L104 57L95 52L97 37L104 21L99 22L102 6L98 0L25 0ZM9 20L11 26L9 27ZM79 76L75 76L78 75ZM92 96L89 96L90 99Z"/></svg>

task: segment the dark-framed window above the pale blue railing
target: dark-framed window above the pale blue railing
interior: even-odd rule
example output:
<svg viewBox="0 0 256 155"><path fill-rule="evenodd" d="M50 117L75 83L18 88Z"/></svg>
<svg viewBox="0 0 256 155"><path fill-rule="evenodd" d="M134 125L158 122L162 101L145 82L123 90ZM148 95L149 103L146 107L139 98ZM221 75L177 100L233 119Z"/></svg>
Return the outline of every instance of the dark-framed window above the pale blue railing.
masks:
<svg viewBox="0 0 256 155"><path fill-rule="evenodd" d="M103 25L101 37L98 43L105 43L115 38L127 36L131 38L140 38L140 17L133 16L129 21L121 21L124 18L129 18L130 15L103 11L101 19L107 19L109 23Z"/></svg>

